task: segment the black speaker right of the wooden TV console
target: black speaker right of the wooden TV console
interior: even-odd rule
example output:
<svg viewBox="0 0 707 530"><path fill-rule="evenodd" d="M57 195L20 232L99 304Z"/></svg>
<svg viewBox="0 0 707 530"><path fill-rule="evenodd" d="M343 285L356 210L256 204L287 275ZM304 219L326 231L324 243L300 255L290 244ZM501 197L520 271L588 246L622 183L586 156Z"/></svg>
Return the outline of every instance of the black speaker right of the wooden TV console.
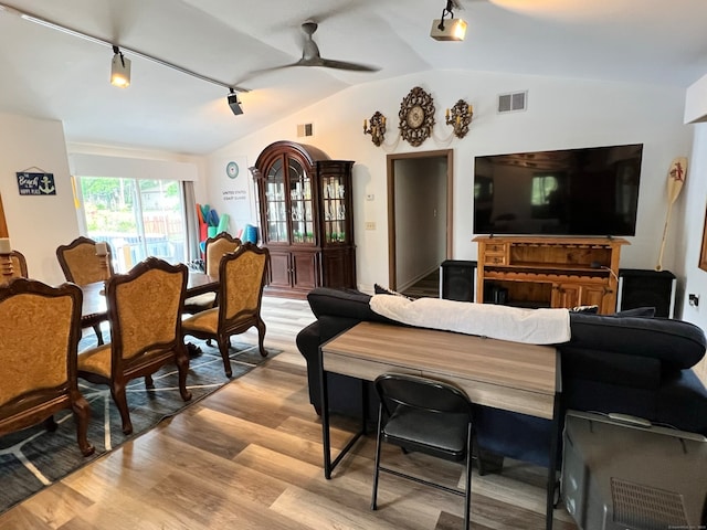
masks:
<svg viewBox="0 0 707 530"><path fill-rule="evenodd" d="M673 318L676 283L669 271L620 268L616 310L655 307L656 317Z"/></svg>

